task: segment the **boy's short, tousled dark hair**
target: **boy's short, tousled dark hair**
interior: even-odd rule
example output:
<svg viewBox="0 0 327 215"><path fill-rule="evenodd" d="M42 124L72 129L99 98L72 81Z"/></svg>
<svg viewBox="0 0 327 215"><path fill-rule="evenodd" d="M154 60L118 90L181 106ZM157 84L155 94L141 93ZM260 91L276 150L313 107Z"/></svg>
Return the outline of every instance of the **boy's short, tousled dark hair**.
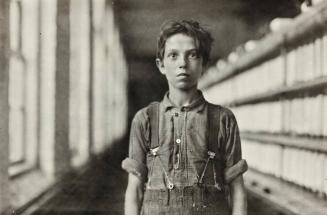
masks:
<svg viewBox="0 0 327 215"><path fill-rule="evenodd" d="M197 21L193 20L169 21L163 24L157 43L157 58L163 60L167 39L178 33L185 34L196 40L199 54L203 59L203 65L206 65L210 60L213 38Z"/></svg>

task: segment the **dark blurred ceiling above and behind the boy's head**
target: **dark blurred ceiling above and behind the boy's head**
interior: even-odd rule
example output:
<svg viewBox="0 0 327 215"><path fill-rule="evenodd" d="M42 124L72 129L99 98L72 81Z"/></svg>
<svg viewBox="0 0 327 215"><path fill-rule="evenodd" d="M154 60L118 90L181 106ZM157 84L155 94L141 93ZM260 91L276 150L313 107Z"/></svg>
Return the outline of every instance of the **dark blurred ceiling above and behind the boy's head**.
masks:
<svg viewBox="0 0 327 215"><path fill-rule="evenodd" d="M157 35L166 20L193 19L214 38L212 59L267 33L275 17L294 17L299 0L120 0L114 1L128 58L154 58Z"/></svg>

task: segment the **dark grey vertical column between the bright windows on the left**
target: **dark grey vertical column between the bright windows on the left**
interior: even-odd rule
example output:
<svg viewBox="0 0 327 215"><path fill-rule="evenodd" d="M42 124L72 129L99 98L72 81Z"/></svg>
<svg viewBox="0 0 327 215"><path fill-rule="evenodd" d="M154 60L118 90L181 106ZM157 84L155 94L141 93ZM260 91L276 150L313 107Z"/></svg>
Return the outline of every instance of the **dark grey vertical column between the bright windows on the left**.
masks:
<svg viewBox="0 0 327 215"><path fill-rule="evenodd" d="M57 1L57 46L55 75L55 176L70 168L69 151L69 0Z"/></svg>

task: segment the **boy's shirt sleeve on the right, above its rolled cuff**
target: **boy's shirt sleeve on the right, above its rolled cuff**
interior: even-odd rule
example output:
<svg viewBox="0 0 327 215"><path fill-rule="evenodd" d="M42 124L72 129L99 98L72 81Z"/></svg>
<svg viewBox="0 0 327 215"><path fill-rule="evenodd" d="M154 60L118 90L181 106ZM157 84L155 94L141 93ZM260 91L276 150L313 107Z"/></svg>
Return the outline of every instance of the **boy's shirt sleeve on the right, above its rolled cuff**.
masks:
<svg viewBox="0 0 327 215"><path fill-rule="evenodd" d="M229 168L242 159L240 133L234 114L227 111L225 115L225 165Z"/></svg>

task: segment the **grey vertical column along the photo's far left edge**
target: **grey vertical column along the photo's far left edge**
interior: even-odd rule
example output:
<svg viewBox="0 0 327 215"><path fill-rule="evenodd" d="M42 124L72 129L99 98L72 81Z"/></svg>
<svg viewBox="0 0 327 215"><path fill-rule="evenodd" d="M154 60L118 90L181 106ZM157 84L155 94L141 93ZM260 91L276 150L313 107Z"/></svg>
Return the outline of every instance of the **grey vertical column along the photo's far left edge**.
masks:
<svg viewBox="0 0 327 215"><path fill-rule="evenodd" d="M0 1L0 213L9 208L9 0Z"/></svg>

